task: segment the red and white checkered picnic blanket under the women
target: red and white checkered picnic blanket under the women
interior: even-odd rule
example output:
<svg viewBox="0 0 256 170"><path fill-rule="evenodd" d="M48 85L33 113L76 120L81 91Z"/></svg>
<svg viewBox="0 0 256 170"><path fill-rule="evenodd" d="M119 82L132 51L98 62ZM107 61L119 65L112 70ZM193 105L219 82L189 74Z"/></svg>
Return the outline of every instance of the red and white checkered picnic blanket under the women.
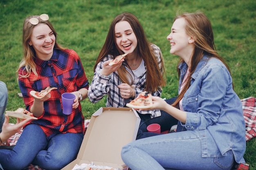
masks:
<svg viewBox="0 0 256 170"><path fill-rule="evenodd" d="M249 141L253 137L256 137L256 98L254 97L248 97L245 99L241 99L242 105L243 105L243 115L245 118L245 138L246 141ZM86 119L84 121L85 130L86 132L88 125L90 123L90 119ZM17 143L20 135L22 133L22 129L20 132L17 132L15 135L9 138L8 142L10 143L10 146L13 146ZM242 163L236 167L236 170L248 170L249 165ZM30 165L28 168L25 168L23 170L44 170L41 169L39 166Z"/></svg>

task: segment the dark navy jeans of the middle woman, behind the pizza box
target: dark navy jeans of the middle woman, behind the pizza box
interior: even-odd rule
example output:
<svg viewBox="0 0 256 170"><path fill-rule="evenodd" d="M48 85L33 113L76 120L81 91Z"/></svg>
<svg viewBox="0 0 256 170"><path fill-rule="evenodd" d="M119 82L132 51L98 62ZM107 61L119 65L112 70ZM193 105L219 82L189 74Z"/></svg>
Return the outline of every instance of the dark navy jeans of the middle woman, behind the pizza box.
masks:
<svg viewBox="0 0 256 170"><path fill-rule="evenodd" d="M167 99L166 102L168 104L173 104L175 102L176 97ZM139 130L137 133L137 138L136 139L142 139L145 137L150 137L150 136L156 136L156 135L161 135L153 132L147 132L147 127L150 124L159 124L161 126L161 132L170 130L171 127L175 124L177 124L178 120L172 117L170 114L166 113L165 111L161 110L161 116L151 118L150 114L140 114L138 113L141 121L139 124Z"/></svg>

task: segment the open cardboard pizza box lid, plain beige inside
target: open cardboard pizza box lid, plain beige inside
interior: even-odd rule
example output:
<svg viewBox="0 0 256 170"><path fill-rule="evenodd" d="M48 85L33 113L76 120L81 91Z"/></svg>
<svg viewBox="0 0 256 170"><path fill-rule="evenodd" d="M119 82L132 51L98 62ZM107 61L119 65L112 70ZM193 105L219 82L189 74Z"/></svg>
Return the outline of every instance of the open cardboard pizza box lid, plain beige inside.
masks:
<svg viewBox="0 0 256 170"><path fill-rule="evenodd" d="M62 170L72 170L82 163L94 163L123 170L124 145L135 141L140 118L132 108L101 107L91 117L77 158Z"/></svg>

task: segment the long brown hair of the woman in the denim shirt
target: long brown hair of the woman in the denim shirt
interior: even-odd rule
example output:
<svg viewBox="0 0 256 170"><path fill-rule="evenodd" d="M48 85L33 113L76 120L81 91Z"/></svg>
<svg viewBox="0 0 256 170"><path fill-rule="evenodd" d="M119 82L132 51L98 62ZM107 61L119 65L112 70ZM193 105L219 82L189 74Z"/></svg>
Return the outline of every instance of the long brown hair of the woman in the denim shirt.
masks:
<svg viewBox="0 0 256 170"><path fill-rule="evenodd" d="M172 106L178 105L182 97L184 96L184 93L188 90L190 87L190 80L192 74L195 72L195 69L202 60L202 57L204 54L208 55L209 57L215 57L218 60L220 60L225 66L227 67L229 73L229 66L225 63L225 60L218 55L216 51L216 47L213 41L213 29L211 22L207 18L207 16L204 13L198 12L198 13L182 13L181 15L176 16L174 19L177 20L179 18L184 18L186 21L186 33L191 36L195 41L195 49L193 51L192 57L191 57L191 68L190 73L187 78L186 84L184 85L183 90L178 95L176 101L172 104ZM180 61L177 65L177 73L180 77L180 70L178 66L183 63L184 60L180 58Z"/></svg>

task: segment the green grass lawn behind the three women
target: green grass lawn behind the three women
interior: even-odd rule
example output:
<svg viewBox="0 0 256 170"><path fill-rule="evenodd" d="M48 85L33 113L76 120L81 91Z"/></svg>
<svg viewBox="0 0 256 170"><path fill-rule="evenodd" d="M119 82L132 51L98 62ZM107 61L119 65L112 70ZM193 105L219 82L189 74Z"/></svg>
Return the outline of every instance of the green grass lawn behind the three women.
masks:
<svg viewBox="0 0 256 170"><path fill-rule="evenodd" d="M25 107L16 69L22 58L22 24L29 15L49 14L58 41L74 49L91 82L93 66L113 18L124 11L137 16L150 42L164 56L167 85L162 97L177 95L177 56L169 53L166 36L177 11L203 11L211 20L218 53L229 62L238 96L256 97L256 2L255 0L2 0L0 1L0 80L9 90L7 110ZM106 97L97 104L81 102L85 118L90 118ZM14 122L14 119L11 119ZM247 142L245 160L256 170L256 139Z"/></svg>

